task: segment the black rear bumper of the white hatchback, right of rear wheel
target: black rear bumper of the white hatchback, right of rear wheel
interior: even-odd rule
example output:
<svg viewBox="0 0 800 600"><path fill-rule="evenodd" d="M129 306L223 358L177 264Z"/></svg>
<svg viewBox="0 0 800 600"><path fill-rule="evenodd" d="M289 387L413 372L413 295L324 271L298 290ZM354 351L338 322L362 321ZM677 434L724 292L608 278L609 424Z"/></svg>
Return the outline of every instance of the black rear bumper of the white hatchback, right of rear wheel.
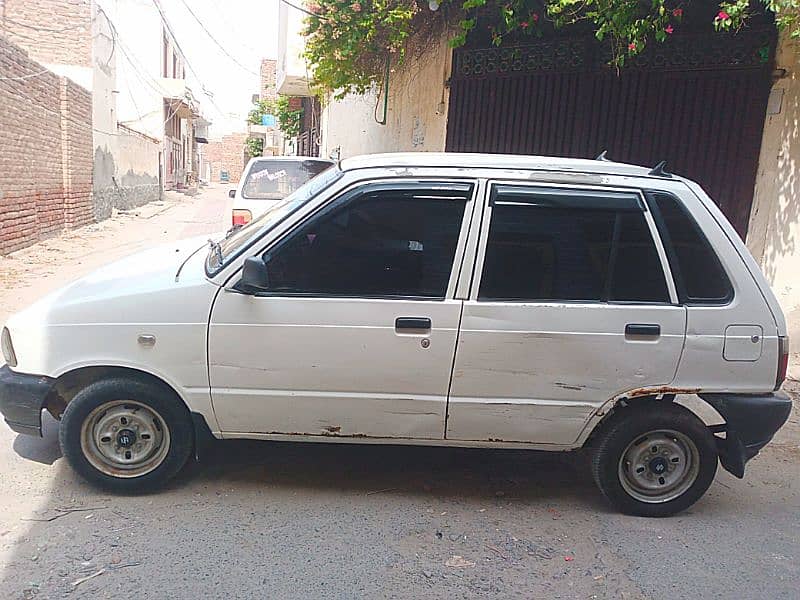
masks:
<svg viewBox="0 0 800 600"><path fill-rule="evenodd" d="M744 466L786 423L792 400L785 392L700 394L725 419L725 439L717 438L719 460L727 471L744 477Z"/></svg>

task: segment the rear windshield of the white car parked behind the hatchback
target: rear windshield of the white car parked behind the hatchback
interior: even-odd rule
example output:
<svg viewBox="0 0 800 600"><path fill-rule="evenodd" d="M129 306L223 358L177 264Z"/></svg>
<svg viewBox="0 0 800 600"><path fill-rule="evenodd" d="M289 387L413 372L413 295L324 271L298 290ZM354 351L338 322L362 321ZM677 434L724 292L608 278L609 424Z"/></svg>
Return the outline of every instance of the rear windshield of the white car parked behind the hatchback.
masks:
<svg viewBox="0 0 800 600"><path fill-rule="evenodd" d="M256 161L242 186L242 198L282 200L330 166L329 161L313 159Z"/></svg>

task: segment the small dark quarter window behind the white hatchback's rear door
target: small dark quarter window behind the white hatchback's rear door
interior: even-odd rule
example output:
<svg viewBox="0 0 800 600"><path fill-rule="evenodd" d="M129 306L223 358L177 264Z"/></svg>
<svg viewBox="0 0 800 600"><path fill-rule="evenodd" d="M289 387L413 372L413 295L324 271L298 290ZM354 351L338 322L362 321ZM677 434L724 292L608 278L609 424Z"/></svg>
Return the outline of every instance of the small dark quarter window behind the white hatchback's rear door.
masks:
<svg viewBox="0 0 800 600"><path fill-rule="evenodd" d="M647 192L681 302L719 304L733 287L714 249L683 203L666 192Z"/></svg>

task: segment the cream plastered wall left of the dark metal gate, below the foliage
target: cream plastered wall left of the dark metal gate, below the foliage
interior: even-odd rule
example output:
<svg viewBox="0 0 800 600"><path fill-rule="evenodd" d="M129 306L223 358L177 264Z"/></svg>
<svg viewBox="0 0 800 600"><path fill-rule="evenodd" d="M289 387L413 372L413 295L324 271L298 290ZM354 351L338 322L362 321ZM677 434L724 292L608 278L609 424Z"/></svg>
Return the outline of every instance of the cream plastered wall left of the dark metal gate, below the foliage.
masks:
<svg viewBox="0 0 800 600"><path fill-rule="evenodd" d="M329 101L322 109L320 156L443 151L452 56L447 39L391 70L386 125L375 118L383 116L376 92Z"/></svg>

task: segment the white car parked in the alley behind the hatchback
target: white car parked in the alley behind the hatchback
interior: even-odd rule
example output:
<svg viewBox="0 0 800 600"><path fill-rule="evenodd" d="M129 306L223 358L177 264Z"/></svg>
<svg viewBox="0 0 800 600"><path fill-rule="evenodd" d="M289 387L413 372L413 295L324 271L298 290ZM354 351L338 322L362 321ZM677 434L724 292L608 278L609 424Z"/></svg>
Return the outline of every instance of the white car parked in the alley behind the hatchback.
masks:
<svg viewBox="0 0 800 600"><path fill-rule="evenodd" d="M333 161L307 156L251 158L239 185L228 193L233 198L231 225L246 225L331 165Z"/></svg>

